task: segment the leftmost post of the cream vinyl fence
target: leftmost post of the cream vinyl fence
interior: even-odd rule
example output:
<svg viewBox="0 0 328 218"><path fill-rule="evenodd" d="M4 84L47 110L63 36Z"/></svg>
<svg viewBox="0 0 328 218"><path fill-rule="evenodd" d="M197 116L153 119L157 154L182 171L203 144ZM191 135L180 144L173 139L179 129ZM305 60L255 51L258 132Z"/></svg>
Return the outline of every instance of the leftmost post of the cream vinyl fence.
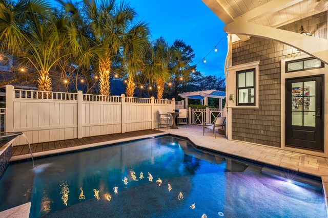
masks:
<svg viewBox="0 0 328 218"><path fill-rule="evenodd" d="M6 85L5 132L14 132L14 86Z"/></svg>

